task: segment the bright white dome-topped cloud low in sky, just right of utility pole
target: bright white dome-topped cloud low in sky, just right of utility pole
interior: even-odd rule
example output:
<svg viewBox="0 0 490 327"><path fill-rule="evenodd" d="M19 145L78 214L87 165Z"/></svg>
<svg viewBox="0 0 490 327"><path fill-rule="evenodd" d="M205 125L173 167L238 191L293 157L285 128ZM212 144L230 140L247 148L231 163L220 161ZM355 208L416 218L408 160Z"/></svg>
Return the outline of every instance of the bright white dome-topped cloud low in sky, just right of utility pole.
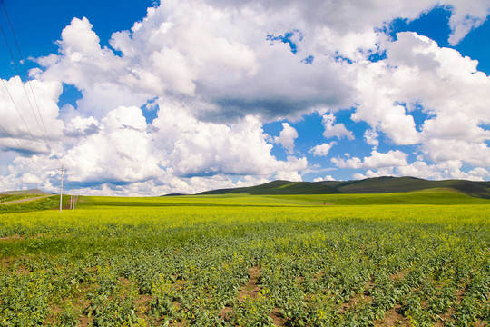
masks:
<svg viewBox="0 0 490 327"><path fill-rule="evenodd" d="M100 124L64 155L70 181L139 182L162 174L139 108L113 109Z"/></svg>

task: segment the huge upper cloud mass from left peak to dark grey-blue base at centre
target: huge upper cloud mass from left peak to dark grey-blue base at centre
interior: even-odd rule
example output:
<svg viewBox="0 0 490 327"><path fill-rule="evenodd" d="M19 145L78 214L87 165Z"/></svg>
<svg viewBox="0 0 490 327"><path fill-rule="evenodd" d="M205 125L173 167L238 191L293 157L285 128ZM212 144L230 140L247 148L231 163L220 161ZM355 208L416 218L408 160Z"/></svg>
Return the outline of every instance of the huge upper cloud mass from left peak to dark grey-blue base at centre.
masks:
<svg viewBox="0 0 490 327"><path fill-rule="evenodd" d="M100 47L86 18L74 18L58 42L61 54L38 60L45 67L41 78L75 85L83 93L80 108L94 116L108 107L142 105L155 95L200 97L214 109L201 114L213 120L276 118L319 104L346 104L350 91L342 67L320 58L303 63L309 54L293 54L266 37L279 17L266 26L256 14L166 1L149 8L131 31L113 35L111 45L121 56Z"/></svg>

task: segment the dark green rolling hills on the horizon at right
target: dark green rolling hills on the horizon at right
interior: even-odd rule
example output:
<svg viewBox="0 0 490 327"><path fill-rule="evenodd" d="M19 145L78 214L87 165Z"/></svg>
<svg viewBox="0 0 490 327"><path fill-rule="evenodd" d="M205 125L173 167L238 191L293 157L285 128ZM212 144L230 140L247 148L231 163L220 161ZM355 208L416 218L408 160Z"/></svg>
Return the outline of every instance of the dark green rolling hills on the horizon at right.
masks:
<svg viewBox="0 0 490 327"><path fill-rule="evenodd" d="M490 182L466 180L427 181L415 177L376 177L359 181L289 182L274 181L251 187L221 189L203 194L341 194L341 193L404 193L444 188L470 196L490 199Z"/></svg>

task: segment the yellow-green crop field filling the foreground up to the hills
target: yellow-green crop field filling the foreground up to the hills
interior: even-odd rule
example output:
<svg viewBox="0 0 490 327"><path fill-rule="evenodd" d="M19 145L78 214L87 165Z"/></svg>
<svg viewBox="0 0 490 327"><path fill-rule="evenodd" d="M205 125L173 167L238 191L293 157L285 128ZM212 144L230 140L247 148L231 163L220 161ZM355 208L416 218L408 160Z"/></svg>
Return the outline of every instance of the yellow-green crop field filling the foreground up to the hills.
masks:
<svg viewBox="0 0 490 327"><path fill-rule="evenodd" d="M61 214L0 214L0 326L490 322L486 200L434 191L83 201Z"/></svg>

